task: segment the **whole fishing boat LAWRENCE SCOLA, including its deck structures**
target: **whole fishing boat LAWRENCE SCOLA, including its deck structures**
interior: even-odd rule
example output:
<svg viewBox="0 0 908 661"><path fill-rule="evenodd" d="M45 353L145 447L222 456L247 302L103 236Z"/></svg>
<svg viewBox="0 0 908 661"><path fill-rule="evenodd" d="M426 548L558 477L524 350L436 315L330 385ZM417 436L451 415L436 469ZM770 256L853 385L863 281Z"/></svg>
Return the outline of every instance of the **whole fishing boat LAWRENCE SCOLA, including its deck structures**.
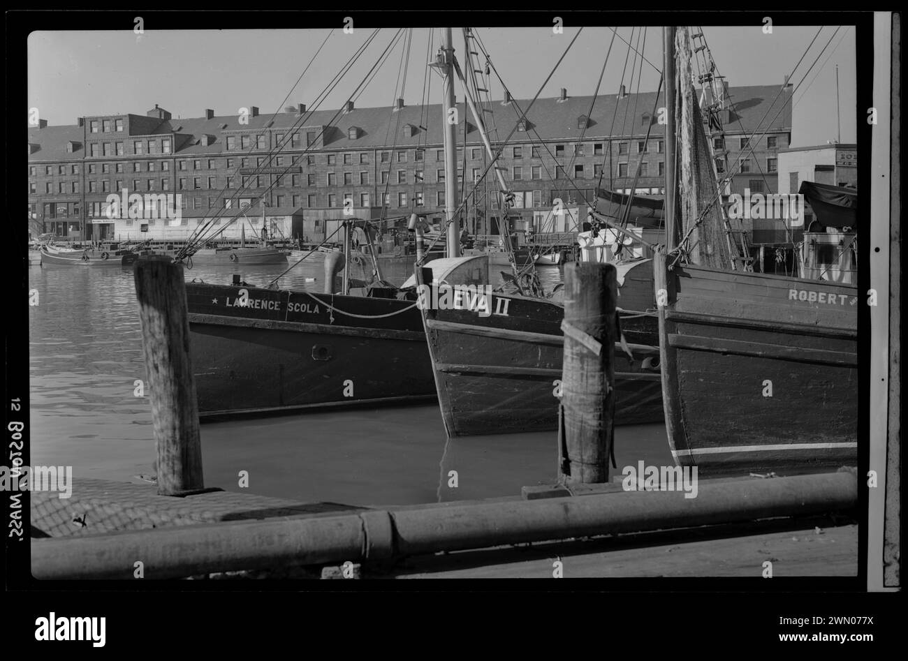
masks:
<svg viewBox="0 0 908 661"><path fill-rule="evenodd" d="M453 161L446 161L446 168L449 182L456 182ZM341 252L326 247L333 238L329 235L301 257L323 253L321 292L277 290L273 285L280 275L263 287L186 283L202 418L436 397L418 293L413 287L393 287L382 278L373 239L385 220L344 220L336 231L343 230ZM455 252L450 258L429 261L434 255L423 245L426 223L418 220L414 213L410 229L418 237L419 254L403 259L425 264L432 281L486 286L486 255L464 258ZM205 232L212 227L214 223L200 228L176 258L191 257L198 263L196 255L202 251L197 249L210 240ZM354 234L357 240L362 236L360 250L354 250ZM456 250L456 235L447 244ZM237 261L248 263L240 256ZM353 278L354 265L367 277ZM341 268L339 288L336 273ZM357 290L362 295L354 295Z"/></svg>

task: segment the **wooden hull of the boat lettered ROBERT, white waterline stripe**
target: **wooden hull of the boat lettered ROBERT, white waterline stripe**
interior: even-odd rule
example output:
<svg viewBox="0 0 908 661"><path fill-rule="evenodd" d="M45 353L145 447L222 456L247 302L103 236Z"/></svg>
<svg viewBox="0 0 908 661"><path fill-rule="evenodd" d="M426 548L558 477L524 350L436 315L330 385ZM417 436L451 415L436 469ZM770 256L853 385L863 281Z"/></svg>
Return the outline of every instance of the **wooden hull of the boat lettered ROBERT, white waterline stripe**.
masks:
<svg viewBox="0 0 908 661"><path fill-rule="evenodd" d="M666 428L701 475L857 462L857 290L656 266Z"/></svg>

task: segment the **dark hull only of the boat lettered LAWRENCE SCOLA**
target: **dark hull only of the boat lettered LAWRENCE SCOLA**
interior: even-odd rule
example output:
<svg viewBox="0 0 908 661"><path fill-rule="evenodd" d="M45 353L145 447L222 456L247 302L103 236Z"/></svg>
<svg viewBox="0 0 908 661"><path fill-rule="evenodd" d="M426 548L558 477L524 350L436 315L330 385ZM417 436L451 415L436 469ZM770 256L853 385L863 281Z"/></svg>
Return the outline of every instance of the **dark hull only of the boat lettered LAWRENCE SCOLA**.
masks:
<svg viewBox="0 0 908 661"><path fill-rule="evenodd" d="M242 289L186 283L200 415L434 399L414 301Z"/></svg>

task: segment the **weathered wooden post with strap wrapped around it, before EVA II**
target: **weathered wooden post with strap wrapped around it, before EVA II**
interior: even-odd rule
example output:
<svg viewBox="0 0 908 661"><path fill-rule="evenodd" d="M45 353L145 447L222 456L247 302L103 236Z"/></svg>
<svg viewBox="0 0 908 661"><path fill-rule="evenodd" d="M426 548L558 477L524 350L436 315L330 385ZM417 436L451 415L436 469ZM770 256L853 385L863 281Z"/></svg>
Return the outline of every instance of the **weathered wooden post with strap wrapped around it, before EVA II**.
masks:
<svg viewBox="0 0 908 661"><path fill-rule="evenodd" d="M558 411L560 481L608 481L615 416L617 274L611 264L565 266L564 367Z"/></svg>

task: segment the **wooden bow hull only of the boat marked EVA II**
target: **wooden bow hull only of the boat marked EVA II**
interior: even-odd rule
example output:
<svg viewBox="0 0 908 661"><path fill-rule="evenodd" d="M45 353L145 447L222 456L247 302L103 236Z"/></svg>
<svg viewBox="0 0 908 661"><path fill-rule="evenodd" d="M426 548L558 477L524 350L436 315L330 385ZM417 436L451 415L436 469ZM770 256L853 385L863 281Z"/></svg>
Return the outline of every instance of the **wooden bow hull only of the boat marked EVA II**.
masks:
<svg viewBox="0 0 908 661"><path fill-rule="evenodd" d="M559 303L517 294L491 295L492 313L423 311L439 405L449 436L558 429L556 381L564 336ZM628 342L653 346L656 319L637 318ZM616 352L616 424L661 422L658 368Z"/></svg>

